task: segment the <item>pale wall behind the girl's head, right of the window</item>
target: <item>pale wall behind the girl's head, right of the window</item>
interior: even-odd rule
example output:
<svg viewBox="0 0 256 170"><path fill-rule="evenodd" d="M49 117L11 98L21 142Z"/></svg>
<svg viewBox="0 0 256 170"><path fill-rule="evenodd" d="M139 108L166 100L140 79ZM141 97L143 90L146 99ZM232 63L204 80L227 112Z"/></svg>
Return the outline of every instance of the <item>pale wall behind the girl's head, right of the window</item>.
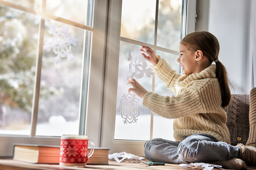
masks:
<svg viewBox="0 0 256 170"><path fill-rule="evenodd" d="M249 94L251 0L197 0L196 31L209 31L220 44L219 60L227 68L235 94Z"/></svg>

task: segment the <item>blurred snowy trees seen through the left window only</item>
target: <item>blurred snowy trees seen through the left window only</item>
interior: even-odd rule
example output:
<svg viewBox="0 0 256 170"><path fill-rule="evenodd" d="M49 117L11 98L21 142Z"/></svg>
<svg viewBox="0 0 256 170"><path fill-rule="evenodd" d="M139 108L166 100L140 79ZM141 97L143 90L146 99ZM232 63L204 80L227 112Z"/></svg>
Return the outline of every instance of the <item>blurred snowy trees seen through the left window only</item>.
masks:
<svg viewBox="0 0 256 170"><path fill-rule="evenodd" d="M8 0L39 10L40 0ZM87 0L47 1L48 13L85 23ZM73 6L73 8L70 8ZM0 134L30 135L30 122L38 52L40 17L0 5ZM56 64L56 53L43 50L36 135L78 134L84 33L81 28L45 20L44 42L52 42L49 26L63 33L71 44L74 62L67 55ZM66 32L62 29L66 26ZM52 42L56 43L56 42ZM59 42L60 43L60 42ZM66 51L67 52L67 51Z"/></svg>

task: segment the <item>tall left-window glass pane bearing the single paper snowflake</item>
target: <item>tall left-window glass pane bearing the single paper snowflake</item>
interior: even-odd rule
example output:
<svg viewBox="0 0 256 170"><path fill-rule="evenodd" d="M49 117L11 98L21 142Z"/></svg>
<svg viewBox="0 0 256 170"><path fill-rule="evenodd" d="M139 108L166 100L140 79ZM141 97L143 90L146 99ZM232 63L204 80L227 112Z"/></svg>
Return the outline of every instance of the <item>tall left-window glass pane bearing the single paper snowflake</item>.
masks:
<svg viewBox="0 0 256 170"><path fill-rule="evenodd" d="M46 20L36 135L79 132L84 33Z"/></svg>

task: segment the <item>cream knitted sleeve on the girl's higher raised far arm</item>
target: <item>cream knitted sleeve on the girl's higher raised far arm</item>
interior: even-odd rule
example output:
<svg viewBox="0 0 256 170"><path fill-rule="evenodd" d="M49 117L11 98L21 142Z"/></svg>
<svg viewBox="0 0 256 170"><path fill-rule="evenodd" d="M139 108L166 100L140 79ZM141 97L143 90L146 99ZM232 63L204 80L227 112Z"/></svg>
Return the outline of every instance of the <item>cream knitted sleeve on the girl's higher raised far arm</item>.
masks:
<svg viewBox="0 0 256 170"><path fill-rule="evenodd" d="M177 95L180 88L177 86L176 82L181 74L176 74L176 71L172 70L168 63L159 55L157 58L158 63L155 67L153 67L155 74L162 80L168 89Z"/></svg>

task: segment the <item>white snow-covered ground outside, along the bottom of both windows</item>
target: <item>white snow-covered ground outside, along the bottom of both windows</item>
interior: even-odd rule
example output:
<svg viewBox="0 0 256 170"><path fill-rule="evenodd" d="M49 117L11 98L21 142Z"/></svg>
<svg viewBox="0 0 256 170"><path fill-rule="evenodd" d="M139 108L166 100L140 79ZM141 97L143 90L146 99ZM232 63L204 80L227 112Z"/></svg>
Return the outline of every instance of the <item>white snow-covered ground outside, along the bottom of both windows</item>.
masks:
<svg viewBox="0 0 256 170"><path fill-rule="evenodd" d="M121 115L116 115L115 139L149 140L150 115L139 115L137 123L124 124ZM173 120L154 115L153 138L174 140ZM51 116L48 122L38 124L36 135L61 136L63 134L78 134L79 121L66 121L63 116ZM30 126L21 130L0 129L0 134L30 135Z"/></svg>

